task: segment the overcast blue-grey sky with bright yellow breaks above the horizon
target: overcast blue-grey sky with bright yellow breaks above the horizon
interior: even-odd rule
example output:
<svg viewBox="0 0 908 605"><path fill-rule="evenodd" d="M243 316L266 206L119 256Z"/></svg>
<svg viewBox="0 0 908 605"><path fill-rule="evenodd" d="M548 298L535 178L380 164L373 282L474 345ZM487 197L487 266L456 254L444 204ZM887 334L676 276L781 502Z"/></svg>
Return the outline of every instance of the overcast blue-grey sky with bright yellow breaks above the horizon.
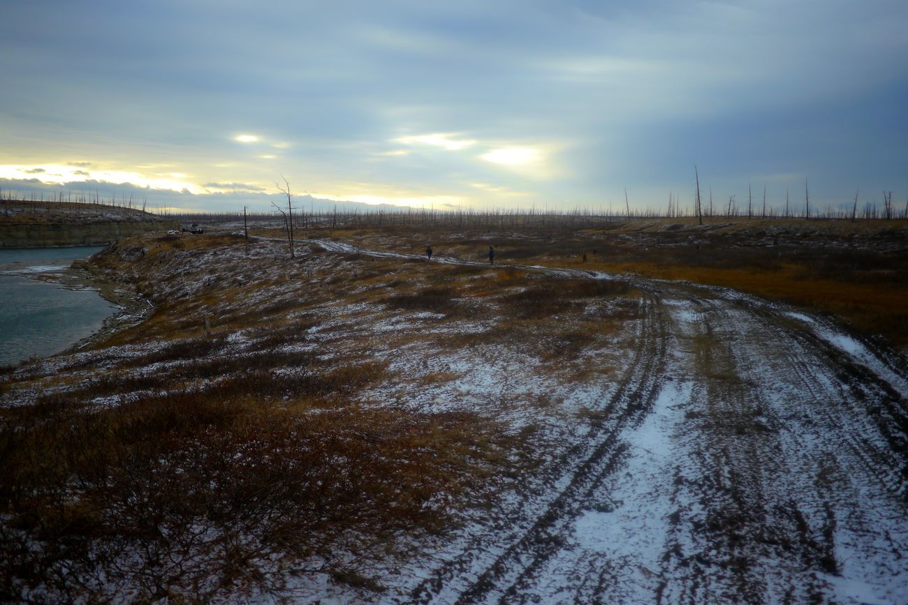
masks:
<svg viewBox="0 0 908 605"><path fill-rule="evenodd" d="M696 165L716 205L898 204L905 32L903 0L0 0L0 189L664 209Z"/></svg>

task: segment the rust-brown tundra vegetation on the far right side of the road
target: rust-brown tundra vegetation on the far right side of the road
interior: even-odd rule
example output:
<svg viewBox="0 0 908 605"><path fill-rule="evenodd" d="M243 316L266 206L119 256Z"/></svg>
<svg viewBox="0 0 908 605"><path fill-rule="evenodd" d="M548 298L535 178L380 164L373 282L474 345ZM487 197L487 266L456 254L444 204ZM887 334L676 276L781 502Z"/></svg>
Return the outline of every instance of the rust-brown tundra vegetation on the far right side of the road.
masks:
<svg viewBox="0 0 908 605"><path fill-rule="evenodd" d="M433 231L335 229L367 249L483 260L495 246L502 265L548 265L687 280L781 300L844 319L867 335L908 346L908 223L905 220L709 218L564 223L535 229ZM554 310L554 309L552 309ZM540 313L544 311L540 310Z"/></svg>

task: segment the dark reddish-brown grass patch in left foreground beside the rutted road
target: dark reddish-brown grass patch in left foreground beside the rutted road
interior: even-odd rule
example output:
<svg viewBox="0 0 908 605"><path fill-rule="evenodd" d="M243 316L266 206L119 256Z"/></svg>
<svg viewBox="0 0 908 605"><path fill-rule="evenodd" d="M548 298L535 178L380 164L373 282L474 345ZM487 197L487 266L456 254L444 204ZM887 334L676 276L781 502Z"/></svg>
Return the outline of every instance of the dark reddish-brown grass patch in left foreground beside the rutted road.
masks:
<svg viewBox="0 0 908 605"><path fill-rule="evenodd" d="M443 531L457 503L489 493L503 437L470 415L345 403L374 378L247 373L94 412L70 397L5 409L2 599L130 586L140 600L209 600L294 574L362 578L400 537ZM283 405L307 389L321 412Z"/></svg>

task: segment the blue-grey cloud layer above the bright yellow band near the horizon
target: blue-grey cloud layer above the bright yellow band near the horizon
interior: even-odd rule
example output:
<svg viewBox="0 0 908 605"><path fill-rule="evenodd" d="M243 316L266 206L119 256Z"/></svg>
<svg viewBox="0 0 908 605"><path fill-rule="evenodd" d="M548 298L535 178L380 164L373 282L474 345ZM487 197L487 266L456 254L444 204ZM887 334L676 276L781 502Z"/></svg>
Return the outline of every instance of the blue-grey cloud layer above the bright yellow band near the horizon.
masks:
<svg viewBox="0 0 908 605"><path fill-rule="evenodd" d="M369 145L398 136L464 132L490 145L567 141L575 174L539 184L546 196L678 187L704 160L729 183L809 171L845 187L859 175L840 145L864 150L866 164L906 163L904 145L873 144L905 132L906 29L908 8L889 0L14 3L0 24L0 70L13 84L0 112L21 116L11 128L23 140L41 133L48 149L103 133L102 151L176 163L246 161L250 148L230 138L254 132L294 143L281 169L379 186L517 183L469 153L366 160ZM874 98L885 119L855 122Z"/></svg>

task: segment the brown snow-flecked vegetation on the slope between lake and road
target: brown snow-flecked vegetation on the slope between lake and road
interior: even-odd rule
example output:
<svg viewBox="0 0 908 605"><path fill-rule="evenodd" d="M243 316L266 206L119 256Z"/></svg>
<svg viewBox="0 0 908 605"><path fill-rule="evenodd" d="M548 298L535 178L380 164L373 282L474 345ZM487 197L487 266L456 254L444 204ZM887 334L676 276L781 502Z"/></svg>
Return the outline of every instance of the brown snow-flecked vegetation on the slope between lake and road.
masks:
<svg viewBox="0 0 908 605"><path fill-rule="evenodd" d="M587 301L633 296L509 269L291 260L279 246L149 236L93 259L155 310L53 370L10 368L0 382L3 600L287 595L320 574L380 590L376 561L496 507L532 434L466 409L414 410L405 390L382 391L401 378L380 351L471 337L519 347L543 318L515 309L537 299L569 317L531 350L577 356L609 329L577 327ZM400 319L415 323L371 336ZM462 321L492 329L445 328ZM426 366L400 384L443 391L460 376Z"/></svg>

